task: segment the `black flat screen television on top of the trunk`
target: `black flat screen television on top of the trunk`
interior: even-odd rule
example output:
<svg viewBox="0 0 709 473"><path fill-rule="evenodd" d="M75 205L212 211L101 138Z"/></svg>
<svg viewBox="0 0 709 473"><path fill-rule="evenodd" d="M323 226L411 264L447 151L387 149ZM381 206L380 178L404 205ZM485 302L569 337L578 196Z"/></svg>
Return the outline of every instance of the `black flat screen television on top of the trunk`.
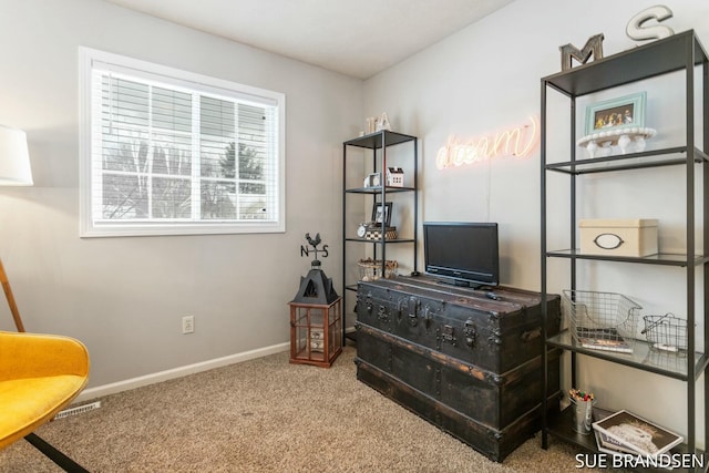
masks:
<svg viewBox="0 0 709 473"><path fill-rule="evenodd" d="M441 282L484 287L500 284L496 223L425 222L425 273Z"/></svg>

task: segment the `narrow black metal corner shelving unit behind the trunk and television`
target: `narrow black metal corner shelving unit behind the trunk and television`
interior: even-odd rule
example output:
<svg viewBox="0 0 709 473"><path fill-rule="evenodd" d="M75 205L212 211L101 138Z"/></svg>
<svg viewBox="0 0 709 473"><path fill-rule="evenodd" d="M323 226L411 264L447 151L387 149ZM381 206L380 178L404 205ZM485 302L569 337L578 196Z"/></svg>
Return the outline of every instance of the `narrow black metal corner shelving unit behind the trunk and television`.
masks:
<svg viewBox="0 0 709 473"><path fill-rule="evenodd" d="M387 175L387 152L390 151L392 146L405 146L409 144L411 150L411 167L404 169L405 173L411 173L411 177L409 182L412 183L411 186L408 187L392 187L384 185L386 175ZM350 148L360 148L364 150L364 160L371 160L371 169L373 173L381 173L381 182L382 185L377 187L347 187L348 183L348 158L352 158L352 156L348 156L348 150ZM368 156L369 155L369 156ZM359 155L356 158L361 160ZM413 270L418 268L418 253L417 253L417 243L418 238L418 228L419 228L419 198L418 198L418 175L419 175L419 156L418 156L418 138L415 136L405 135L402 133L391 132L387 130L382 130L379 132L370 133L364 136L359 136L342 143L342 185L345 186L342 194L342 284L345 285L345 290L342 294L342 346L347 342L347 339L350 338L352 340L356 339L353 333L347 333L347 313L348 308L350 308L351 304L348 300L348 292L357 292L357 282L347 280L347 271L348 265L351 265L352 261L348 261L348 245L361 245L369 244L373 246L373 258L381 258L381 275L386 274L386 261L387 261L387 246L388 245L411 245L412 251L412 261L413 261ZM362 163L362 169L364 168L364 163ZM362 172L357 177L362 179L366 174ZM357 224L360 222L367 220L367 216L364 215L366 209L362 208L362 219L359 222L348 222L347 210L349 208L348 196L352 196L354 194L370 196L372 200L372 205L376 203L386 203L387 196L390 194L400 194L405 193L412 198L412 229L411 237L407 238L395 238L395 239L386 239L386 222L381 224L381 237L376 240L352 237L354 234L354 229L357 228ZM362 204L362 202L359 202ZM352 298L353 299L353 298Z"/></svg>

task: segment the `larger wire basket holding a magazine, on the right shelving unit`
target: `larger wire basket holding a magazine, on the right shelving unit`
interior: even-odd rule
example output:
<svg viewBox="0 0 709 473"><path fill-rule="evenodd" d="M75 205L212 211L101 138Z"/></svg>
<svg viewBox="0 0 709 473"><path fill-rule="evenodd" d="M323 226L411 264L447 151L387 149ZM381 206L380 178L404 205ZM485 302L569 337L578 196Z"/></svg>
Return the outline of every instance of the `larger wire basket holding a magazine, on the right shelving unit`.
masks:
<svg viewBox="0 0 709 473"><path fill-rule="evenodd" d="M563 307L576 343L595 350L633 352L641 309L633 300L616 292L564 290Z"/></svg>

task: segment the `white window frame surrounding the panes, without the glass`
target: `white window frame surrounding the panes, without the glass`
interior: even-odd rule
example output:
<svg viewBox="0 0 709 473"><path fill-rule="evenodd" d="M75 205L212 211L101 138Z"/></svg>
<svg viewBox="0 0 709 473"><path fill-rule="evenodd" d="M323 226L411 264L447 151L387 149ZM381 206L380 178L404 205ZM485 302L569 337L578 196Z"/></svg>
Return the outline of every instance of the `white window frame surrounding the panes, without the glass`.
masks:
<svg viewBox="0 0 709 473"><path fill-rule="evenodd" d="M209 222L207 219L192 222L157 220L94 220L94 177L93 177L93 84L94 64L101 69L115 68L116 71L135 71L138 79L154 78L163 84L189 89L197 93L215 93L230 99L245 99L260 103L270 103L277 107L275 141L276 160L271 163L276 172L273 184L275 200L278 206L273 220L235 220ZM115 237L115 236L166 236L166 235L215 235L215 234L255 234L286 232L286 156L285 156L285 117L286 99L280 92L244 85L223 79L212 78L175 68L155 64L124 55L99 51L91 48L79 48L80 75L80 124L79 124L79 165L80 165L80 237Z"/></svg>

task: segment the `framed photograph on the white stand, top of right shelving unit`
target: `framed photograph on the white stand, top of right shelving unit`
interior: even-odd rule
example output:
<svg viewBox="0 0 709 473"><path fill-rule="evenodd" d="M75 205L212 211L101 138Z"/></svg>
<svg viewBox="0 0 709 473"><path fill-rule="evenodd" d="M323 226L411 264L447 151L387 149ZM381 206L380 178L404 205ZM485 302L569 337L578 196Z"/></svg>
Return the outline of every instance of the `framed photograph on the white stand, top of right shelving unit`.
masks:
<svg viewBox="0 0 709 473"><path fill-rule="evenodd" d="M645 126L646 92L606 100L586 107L586 135Z"/></svg>

